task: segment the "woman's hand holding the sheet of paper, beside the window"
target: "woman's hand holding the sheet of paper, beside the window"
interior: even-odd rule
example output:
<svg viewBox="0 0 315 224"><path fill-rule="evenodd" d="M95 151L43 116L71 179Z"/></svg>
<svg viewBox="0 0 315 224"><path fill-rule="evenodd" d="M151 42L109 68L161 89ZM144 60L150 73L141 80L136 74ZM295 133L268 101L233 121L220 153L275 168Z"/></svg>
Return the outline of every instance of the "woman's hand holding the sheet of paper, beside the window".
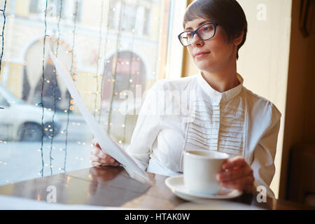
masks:
<svg viewBox="0 0 315 224"><path fill-rule="evenodd" d="M95 139L92 140L93 148L91 151L90 162L93 167L96 166L112 166L120 165L111 155L104 153Z"/></svg>

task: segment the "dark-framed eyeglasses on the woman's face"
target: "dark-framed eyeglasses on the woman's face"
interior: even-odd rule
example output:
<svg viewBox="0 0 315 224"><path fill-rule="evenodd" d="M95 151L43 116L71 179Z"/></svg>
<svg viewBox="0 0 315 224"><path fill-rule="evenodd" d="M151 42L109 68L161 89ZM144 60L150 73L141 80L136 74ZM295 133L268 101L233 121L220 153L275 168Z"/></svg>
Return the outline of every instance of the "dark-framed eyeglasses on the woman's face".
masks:
<svg viewBox="0 0 315 224"><path fill-rule="evenodd" d="M216 35L216 22L208 22L198 27L195 31L183 31L179 34L179 41L184 47L191 45L195 34L202 40L207 41Z"/></svg>

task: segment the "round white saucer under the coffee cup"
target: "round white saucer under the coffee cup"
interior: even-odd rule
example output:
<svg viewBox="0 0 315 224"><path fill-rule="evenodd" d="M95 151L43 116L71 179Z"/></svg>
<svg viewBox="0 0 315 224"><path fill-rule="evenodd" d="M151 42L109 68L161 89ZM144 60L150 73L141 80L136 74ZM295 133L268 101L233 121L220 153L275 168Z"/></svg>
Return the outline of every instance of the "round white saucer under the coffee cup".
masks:
<svg viewBox="0 0 315 224"><path fill-rule="evenodd" d="M172 190L172 192L181 197L183 200L195 201L202 199L214 199L214 200L227 200L235 197L239 197L242 192L239 190L223 188L216 195L205 195L201 193L192 193L190 192L183 184L183 175L182 176L172 176L165 180L166 186Z"/></svg>

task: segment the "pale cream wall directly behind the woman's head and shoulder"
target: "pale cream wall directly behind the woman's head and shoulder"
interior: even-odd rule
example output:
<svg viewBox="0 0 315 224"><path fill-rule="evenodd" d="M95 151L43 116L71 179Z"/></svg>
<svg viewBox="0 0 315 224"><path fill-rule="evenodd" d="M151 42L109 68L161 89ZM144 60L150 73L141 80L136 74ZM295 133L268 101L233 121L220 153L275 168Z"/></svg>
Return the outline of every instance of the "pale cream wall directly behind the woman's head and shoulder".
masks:
<svg viewBox="0 0 315 224"><path fill-rule="evenodd" d="M244 78L244 86L269 99L281 111L276 173L271 184L279 195L283 127L286 117L286 89L290 47L291 0L239 0L248 21L246 43L239 51L237 71ZM183 76L197 73L197 68L184 52Z"/></svg>

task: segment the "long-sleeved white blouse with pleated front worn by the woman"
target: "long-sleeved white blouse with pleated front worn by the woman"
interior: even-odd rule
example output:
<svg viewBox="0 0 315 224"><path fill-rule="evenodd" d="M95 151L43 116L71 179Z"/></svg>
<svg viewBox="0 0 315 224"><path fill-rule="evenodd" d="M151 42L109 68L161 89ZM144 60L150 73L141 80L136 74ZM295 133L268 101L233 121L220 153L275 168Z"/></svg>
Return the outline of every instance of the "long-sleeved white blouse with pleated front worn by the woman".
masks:
<svg viewBox="0 0 315 224"><path fill-rule="evenodd" d="M159 80L148 91L126 151L148 172L183 172L183 152L204 149L241 155L253 169L255 186L269 185L281 113L276 106L239 84L214 90L201 73Z"/></svg>

